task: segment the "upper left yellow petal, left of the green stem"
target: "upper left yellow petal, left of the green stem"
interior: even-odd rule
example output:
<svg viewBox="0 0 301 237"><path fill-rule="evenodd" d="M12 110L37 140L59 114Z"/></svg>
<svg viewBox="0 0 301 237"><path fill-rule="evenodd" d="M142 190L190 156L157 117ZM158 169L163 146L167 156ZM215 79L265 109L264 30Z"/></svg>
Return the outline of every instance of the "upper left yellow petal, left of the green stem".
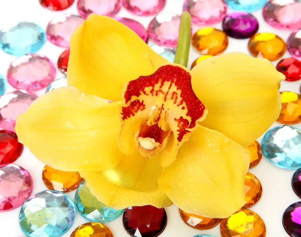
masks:
<svg viewBox="0 0 301 237"><path fill-rule="evenodd" d="M91 14L70 39L68 85L120 100L123 83L150 75L166 63L126 26Z"/></svg>

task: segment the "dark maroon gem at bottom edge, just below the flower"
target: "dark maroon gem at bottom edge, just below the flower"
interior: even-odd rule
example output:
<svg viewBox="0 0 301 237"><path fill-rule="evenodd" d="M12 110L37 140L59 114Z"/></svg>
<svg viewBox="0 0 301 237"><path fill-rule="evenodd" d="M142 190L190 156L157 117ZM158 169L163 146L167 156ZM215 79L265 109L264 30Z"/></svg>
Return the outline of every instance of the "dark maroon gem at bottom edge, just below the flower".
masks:
<svg viewBox="0 0 301 237"><path fill-rule="evenodd" d="M164 208L132 206L125 209L122 221L132 237L157 237L167 225L167 215Z"/></svg>

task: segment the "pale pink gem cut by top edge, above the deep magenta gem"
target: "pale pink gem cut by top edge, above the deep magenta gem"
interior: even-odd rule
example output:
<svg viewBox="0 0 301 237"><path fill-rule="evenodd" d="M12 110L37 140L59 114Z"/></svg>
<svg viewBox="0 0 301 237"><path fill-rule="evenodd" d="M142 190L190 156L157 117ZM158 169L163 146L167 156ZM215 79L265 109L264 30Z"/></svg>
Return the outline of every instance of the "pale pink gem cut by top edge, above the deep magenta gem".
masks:
<svg viewBox="0 0 301 237"><path fill-rule="evenodd" d="M152 16L164 9L166 0L122 0L123 7L138 16Z"/></svg>

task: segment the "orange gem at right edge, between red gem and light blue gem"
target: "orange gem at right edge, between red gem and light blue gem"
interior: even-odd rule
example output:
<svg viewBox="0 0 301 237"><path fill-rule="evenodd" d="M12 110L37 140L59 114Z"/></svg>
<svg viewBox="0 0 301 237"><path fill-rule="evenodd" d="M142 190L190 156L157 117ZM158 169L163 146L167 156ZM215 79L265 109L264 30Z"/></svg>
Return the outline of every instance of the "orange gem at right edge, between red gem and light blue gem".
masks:
<svg viewBox="0 0 301 237"><path fill-rule="evenodd" d="M294 92L281 92L282 109L277 122L295 124L301 122L301 96Z"/></svg>

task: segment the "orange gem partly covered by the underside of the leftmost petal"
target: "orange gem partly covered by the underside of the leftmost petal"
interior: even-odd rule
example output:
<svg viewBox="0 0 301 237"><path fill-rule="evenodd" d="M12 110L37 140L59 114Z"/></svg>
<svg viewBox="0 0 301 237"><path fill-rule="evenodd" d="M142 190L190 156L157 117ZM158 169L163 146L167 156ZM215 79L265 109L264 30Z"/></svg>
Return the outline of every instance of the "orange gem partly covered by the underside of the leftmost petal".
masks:
<svg viewBox="0 0 301 237"><path fill-rule="evenodd" d="M42 179L48 189L61 192L71 192L84 181L79 172L61 171L48 165L43 169Z"/></svg>

